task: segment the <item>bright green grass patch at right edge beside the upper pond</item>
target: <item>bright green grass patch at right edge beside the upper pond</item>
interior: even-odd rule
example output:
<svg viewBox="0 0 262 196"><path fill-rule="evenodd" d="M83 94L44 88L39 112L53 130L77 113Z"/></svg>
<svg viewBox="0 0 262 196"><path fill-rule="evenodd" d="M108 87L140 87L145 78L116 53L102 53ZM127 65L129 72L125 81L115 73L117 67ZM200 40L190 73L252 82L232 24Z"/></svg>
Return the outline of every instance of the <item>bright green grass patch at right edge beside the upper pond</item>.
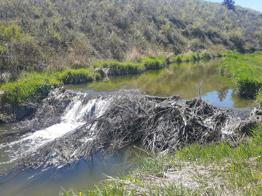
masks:
<svg viewBox="0 0 262 196"><path fill-rule="evenodd" d="M262 52L230 54L220 63L222 74L232 77L239 95L255 96L262 88ZM261 96L261 93L258 94ZM259 98L261 99L261 97Z"/></svg>

